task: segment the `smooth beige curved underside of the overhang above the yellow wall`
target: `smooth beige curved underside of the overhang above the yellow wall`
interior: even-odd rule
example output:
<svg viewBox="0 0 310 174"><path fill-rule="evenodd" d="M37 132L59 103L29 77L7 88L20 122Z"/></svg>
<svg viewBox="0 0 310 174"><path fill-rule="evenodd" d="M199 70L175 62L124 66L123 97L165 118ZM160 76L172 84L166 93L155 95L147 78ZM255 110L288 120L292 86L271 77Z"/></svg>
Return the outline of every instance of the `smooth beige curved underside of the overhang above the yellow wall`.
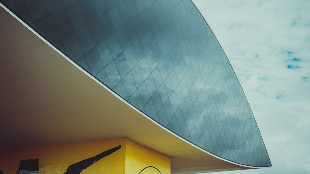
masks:
<svg viewBox="0 0 310 174"><path fill-rule="evenodd" d="M256 168L212 155L151 120L4 8L0 151L127 137L170 156L171 173Z"/></svg>

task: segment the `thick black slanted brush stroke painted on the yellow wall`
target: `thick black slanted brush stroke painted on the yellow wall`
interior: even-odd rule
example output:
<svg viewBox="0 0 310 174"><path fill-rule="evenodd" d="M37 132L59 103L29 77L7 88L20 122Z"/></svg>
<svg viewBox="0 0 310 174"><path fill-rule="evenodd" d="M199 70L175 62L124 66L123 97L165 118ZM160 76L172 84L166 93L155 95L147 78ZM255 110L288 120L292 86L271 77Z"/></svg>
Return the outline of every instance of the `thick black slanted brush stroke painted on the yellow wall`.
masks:
<svg viewBox="0 0 310 174"><path fill-rule="evenodd" d="M119 145L117 147L114 147L112 149L109 149L107 151L104 151L94 157L88 158L88 159L84 159L80 162L74 163L69 165L69 167L67 168L67 170L64 172L64 174L80 174L82 172L82 170L88 168L89 166L91 166L92 164L94 164L95 162L99 161L100 159L111 155L113 152L117 151L118 149L120 149L122 147L122 145ZM1 174L1 173L0 173Z"/></svg>

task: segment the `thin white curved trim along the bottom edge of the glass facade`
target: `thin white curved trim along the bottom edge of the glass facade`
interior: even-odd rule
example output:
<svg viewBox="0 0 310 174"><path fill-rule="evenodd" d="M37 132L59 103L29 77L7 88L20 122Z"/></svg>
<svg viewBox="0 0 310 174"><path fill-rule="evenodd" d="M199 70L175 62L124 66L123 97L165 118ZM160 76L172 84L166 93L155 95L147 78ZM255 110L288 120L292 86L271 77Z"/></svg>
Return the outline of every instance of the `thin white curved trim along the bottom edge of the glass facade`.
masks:
<svg viewBox="0 0 310 174"><path fill-rule="evenodd" d="M193 3L194 4L194 3ZM194 4L195 5L195 4ZM100 84L102 87L104 87L106 90L108 90L111 94L113 94L115 97L117 97L118 100L121 100L123 103L125 103L126 105L128 105L129 107L131 107L132 109L134 109L136 112L138 112L139 114L143 115L145 118L147 118L148 120L152 121L153 123L155 123L157 126L159 126L160 128L164 129L166 132L174 135L175 137L179 138L180 140L182 140L183 142L187 143L190 146L193 146L194 148L205 152L208 155L211 155L217 159L223 160L225 162L231 163L231 164L235 164L241 167L245 167L245 168L269 168L269 167L255 167L255 166L247 166L247 165L243 165L240 163L236 163L233 161L230 161L228 159L224 159L218 155L214 155L204 149L202 149L201 147L193 144L192 142L189 142L188 140L186 140L185 138L182 138L181 136L179 136L178 134L175 134L174 132L172 132L171 130L167 129L165 126L159 124L157 121L154 121L151 117L147 116L144 112L140 111L139 109L135 108L133 105L131 105L129 102L127 102L126 100L124 100L122 97L120 97L117 93L115 93L113 90L111 90L109 87L107 87L106 85L104 85L101 81L99 81L98 79L96 79L93 75L89 74L86 70L84 70L81 66L79 66L77 63L75 63L73 60L71 60L69 57L67 57L64 53L62 53L60 50L58 50L57 48L55 48L55 46L53 46L49 41L47 41L43 36L41 36L38 32L36 32L35 30L33 30L33 28L31 28L27 23L25 23L22 19L20 19L17 15L15 15L12 11L10 11L6 6L4 6L2 3L0 3L0 6L2 6L3 9L5 9L8 13L10 13L15 19L17 19L20 23L22 23L27 29L29 29L33 34L35 34L36 36L38 36L43 42L45 42L47 45L49 45L52 49L54 49L57 53L59 53L62 57L64 57L67 61L69 61L73 66L75 66L76 68L78 68L80 71L82 71L84 74L86 74L88 77L90 77L93 81L95 81L96 83ZM196 6L195 6L196 7ZM196 7L197 8L197 7ZM197 9L198 10L198 9ZM199 10L198 10L199 11ZM200 13L200 11L199 11ZM202 16L202 15L201 15ZM202 16L203 17L203 16ZM213 33L213 32L212 32ZM239 82L239 81L238 81ZM239 83L240 84L240 83Z"/></svg>

